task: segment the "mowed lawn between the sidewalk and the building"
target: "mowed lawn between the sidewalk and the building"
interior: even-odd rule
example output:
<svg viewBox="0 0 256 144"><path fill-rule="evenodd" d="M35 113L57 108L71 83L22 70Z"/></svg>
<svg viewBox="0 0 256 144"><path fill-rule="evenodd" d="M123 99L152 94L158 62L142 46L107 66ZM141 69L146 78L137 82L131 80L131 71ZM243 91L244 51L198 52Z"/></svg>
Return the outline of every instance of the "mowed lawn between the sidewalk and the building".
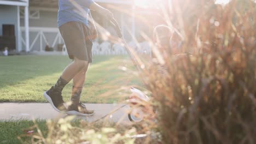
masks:
<svg viewBox="0 0 256 144"><path fill-rule="evenodd" d="M67 56L0 57L0 102L46 102L44 91L55 84L71 62ZM129 70L123 71L120 67ZM118 103L126 99L129 86L142 85L132 71L136 70L128 56L95 56L86 75L81 100ZM72 81L63 89L65 101L70 99L71 90Z"/></svg>

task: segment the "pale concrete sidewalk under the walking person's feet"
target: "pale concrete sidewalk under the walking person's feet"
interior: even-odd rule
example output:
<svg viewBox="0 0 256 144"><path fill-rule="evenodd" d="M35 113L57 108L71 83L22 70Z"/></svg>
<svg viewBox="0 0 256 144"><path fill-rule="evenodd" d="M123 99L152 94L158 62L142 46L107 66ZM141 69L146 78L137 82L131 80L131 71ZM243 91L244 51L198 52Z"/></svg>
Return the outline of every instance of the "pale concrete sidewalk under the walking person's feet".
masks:
<svg viewBox="0 0 256 144"><path fill-rule="evenodd" d="M94 122L97 119L117 110L125 104L85 104L87 109L95 110L94 116L77 116L77 119L84 119L88 122ZM127 116L129 106L125 105L112 115L104 118L104 121L120 122L124 124L131 123ZM59 113L51 107L49 103L0 103L0 120L9 121L10 119L59 119L66 117L66 114Z"/></svg>

